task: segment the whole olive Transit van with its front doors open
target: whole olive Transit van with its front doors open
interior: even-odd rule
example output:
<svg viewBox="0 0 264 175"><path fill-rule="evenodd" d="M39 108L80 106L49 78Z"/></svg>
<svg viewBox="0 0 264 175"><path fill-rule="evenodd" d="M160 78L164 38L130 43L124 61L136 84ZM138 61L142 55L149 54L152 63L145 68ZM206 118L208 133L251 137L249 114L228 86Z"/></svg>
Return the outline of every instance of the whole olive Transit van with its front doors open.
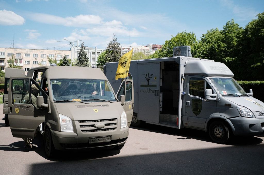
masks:
<svg viewBox="0 0 264 175"><path fill-rule="evenodd" d="M133 115L133 81L124 80L116 96L97 68L41 66L26 76L22 69L5 71L3 113L13 137L33 139L41 130L48 157L55 150L124 146Z"/></svg>

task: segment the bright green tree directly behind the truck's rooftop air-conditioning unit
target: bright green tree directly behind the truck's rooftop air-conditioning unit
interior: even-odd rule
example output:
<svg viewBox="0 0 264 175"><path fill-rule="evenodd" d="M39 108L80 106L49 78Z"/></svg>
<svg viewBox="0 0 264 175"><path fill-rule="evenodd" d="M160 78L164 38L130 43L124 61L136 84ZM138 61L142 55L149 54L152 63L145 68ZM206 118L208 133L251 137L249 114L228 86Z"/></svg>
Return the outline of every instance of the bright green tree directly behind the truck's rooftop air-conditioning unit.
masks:
<svg viewBox="0 0 264 175"><path fill-rule="evenodd" d="M192 45L195 43L197 43L195 34L184 31L178 33L175 37L172 36L170 40L166 40L162 48L150 55L149 58L163 58L173 56L173 47L182 45L190 45L192 51Z"/></svg>

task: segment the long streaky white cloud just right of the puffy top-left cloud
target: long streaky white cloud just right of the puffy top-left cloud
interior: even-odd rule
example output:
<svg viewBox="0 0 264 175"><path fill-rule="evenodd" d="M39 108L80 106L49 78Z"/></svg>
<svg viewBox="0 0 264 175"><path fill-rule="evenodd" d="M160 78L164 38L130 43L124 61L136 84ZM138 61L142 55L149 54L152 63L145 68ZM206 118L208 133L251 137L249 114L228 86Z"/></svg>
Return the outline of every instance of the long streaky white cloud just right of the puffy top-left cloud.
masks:
<svg viewBox="0 0 264 175"><path fill-rule="evenodd" d="M45 24L84 27L88 24L100 24L102 19L95 15L78 15L75 17L59 17L44 13L31 13L28 18Z"/></svg>

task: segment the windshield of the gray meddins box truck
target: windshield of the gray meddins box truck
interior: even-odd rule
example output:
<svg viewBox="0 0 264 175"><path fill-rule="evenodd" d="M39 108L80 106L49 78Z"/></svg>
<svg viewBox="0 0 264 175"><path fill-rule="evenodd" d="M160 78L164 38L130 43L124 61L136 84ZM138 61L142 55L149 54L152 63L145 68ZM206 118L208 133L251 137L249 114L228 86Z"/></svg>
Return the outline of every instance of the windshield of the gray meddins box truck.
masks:
<svg viewBox="0 0 264 175"><path fill-rule="evenodd" d="M248 96L233 78L210 78L221 95L234 97Z"/></svg>

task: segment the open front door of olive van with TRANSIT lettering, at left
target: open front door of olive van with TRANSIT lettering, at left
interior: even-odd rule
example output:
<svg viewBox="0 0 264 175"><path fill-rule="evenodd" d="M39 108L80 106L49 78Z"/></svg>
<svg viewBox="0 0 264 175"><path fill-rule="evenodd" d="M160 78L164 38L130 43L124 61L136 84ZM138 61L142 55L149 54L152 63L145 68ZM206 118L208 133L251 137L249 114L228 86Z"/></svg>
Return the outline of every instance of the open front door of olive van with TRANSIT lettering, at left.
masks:
<svg viewBox="0 0 264 175"><path fill-rule="evenodd" d="M32 78L10 77L8 119L13 137L34 138L37 127L45 121L48 109L37 107L36 96L49 97Z"/></svg>

